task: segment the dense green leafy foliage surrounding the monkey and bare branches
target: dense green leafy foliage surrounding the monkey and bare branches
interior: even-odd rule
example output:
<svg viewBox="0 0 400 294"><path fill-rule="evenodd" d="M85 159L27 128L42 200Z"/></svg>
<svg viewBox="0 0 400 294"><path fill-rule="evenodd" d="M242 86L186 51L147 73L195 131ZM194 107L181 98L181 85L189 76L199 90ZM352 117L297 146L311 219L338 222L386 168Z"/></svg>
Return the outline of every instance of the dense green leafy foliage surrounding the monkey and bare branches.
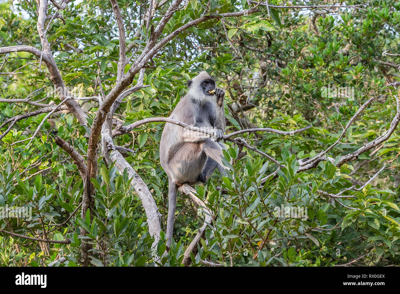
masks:
<svg viewBox="0 0 400 294"><path fill-rule="evenodd" d="M165 13L169 2L158 8L156 16ZM361 3L365 2L346 2ZM148 3L121 0L118 4L126 42L133 44L127 56L134 52L134 59L148 38L145 27L139 30L139 36L134 36ZM289 5L277 0L269 4ZM312 4L332 2L291 2ZM394 95L398 90L387 84L398 81L399 76L396 65L400 63L400 2L372 0L368 4L367 11L270 8L270 18L266 7L259 6L261 11L257 13L226 18L223 23L208 20L189 28L148 62L144 84L150 86L126 98L114 116L124 124L168 116L186 93L186 80L207 70L217 76L218 86L227 92L226 132L258 127L294 131L313 125L304 132L286 136L268 132L240 135L285 165L276 178L270 177L263 184L262 178L278 166L246 148L246 156L236 161L238 146L227 142L225 158L226 164L233 163L231 172L224 178L215 172L205 186L196 186L198 196L207 200L214 222L206 230L208 242L202 240L199 254L192 255L194 265L208 260L227 266L333 266L364 255L355 264L400 264L398 130L356 160L335 166L341 156L388 130L396 115ZM49 7L48 15L54 14L54 6ZM163 34L204 13L248 8L245 0L190 0L174 14ZM2 2L0 9L0 47L23 44L40 50L36 2ZM76 96L99 95L99 76L104 91L109 92L115 84L119 58L118 31L110 3L72 1L60 13L65 24L55 18L47 36L65 84L78 89ZM152 22L156 24L158 20L160 17ZM0 75L0 98L31 95L32 101L46 105L61 102L52 94L54 87L47 68L44 64L38 68L39 58L24 52L0 58L0 72L21 72ZM25 66L27 62L30 64ZM125 71L129 67L128 64ZM351 90L342 96L324 94L326 88L334 86ZM299 160L312 158L334 144L342 127L372 97L375 100L347 129L343 144L327 153L335 162L322 161L316 168L296 173ZM79 103L93 119L98 103ZM0 101L0 125L8 118L39 108ZM93 220L89 212L86 218L78 213L69 219L79 210L83 184L76 165L54 142L50 121L46 120L28 148L29 140L12 144L32 136L45 116L46 113L19 120L0 142L0 206L32 209L31 220L0 215L0 225L7 232L50 240L70 239L71 243L36 242L0 232L0 264L43 266L66 256L68 262L59 266L79 266L79 235L83 228L89 232L86 240L95 244L91 257L94 266L151 266L153 256L164 253L159 264L180 265L186 246L204 222L202 210L188 196L179 197L176 242L167 253L162 232L153 249L154 238L128 174L121 174L113 164L107 167L100 158L98 177L91 179L96 188ZM54 122L53 131L57 130L58 136L85 157L88 143L83 135L87 131L84 126L65 112ZM9 126L2 126L0 135ZM168 178L160 168L158 152L163 127L164 123L147 124L116 137L115 143L135 150L135 154L127 153L124 157L152 192L162 214L161 228L165 230ZM341 206L320 193L337 194L353 184L360 188L384 164L385 168L370 184L360 191L353 189L343 194L354 198L338 199L359 210ZM283 206L301 208L306 218L277 216L276 208Z"/></svg>

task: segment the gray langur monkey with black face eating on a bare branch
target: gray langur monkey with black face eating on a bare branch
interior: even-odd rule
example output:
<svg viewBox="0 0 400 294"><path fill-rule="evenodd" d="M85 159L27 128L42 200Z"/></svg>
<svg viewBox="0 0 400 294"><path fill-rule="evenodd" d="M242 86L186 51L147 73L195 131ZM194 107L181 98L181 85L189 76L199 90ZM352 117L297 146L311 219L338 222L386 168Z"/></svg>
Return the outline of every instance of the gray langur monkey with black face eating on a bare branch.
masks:
<svg viewBox="0 0 400 294"><path fill-rule="evenodd" d="M185 183L204 183L216 168L222 175L226 174L227 168L222 164L222 149L225 148L219 142L225 132L225 91L215 88L215 79L205 71L189 80L188 86L188 94L178 102L170 118L190 126L212 130L214 137L209 138L175 124L167 123L164 126L160 142L160 161L168 175L168 246L172 242L174 231L178 186Z"/></svg>

